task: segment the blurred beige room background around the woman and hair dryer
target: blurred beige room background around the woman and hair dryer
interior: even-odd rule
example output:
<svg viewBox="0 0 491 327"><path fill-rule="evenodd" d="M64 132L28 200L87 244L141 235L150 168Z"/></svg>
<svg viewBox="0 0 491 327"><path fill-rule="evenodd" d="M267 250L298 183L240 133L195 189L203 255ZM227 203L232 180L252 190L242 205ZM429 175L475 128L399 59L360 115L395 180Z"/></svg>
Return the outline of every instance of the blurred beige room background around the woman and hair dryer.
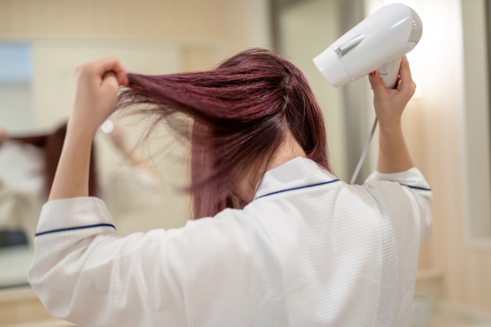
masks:
<svg viewBox="0 0 491 327"><path fill-rule="evenodd" d="M278 51L324 110L336 174L347 181L374 118L366 78L333 88L312 59L386 0L0 0L0 325L70 326L27 284L46 201L46 165L71 111L75 67L118 56L144 74L208 69L247 48ZM485 0L400 0L423 22L408 55L417 91L404 114L416 166L433 189L413 326L491 326L491 12ZM189 218L188 145L118 116L95 139L94 192L120 235ZM158 140L152 142L152 140ZM374 139L358 182L374 169Z"/></svg>

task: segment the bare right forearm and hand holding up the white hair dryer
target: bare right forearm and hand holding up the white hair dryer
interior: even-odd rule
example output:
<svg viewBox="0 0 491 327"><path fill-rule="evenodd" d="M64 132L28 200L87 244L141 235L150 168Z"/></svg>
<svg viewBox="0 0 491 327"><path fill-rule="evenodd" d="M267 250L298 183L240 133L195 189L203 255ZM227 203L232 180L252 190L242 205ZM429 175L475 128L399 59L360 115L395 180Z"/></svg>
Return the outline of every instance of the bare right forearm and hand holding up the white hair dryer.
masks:
<svg viewBox="0 0 491 327"><path fill-rule="evenodd" d="M377 171L398 173L414 167L401 128L401 116L416 84L411 77L409 62L404 56L400 62L397 88L386 88L377 71L369 76L373 88L373 104L380 126L380 151Z"/></svg>

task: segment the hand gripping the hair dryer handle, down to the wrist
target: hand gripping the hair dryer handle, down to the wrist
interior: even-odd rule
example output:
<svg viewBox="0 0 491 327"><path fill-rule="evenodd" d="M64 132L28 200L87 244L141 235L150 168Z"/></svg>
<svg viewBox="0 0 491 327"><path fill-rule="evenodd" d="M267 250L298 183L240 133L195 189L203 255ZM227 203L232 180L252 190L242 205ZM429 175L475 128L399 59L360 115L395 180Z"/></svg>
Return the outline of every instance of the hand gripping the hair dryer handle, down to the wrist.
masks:
<svg viewBox="0 0 491 327"><path fill-rule="evenodd" d="M404 108L416 90L408 59L406 56L401 58L397 88L386 88L378 72L374 73L368 76L368 80L373 89L373 104L380 128L398 128Z"/></svg>

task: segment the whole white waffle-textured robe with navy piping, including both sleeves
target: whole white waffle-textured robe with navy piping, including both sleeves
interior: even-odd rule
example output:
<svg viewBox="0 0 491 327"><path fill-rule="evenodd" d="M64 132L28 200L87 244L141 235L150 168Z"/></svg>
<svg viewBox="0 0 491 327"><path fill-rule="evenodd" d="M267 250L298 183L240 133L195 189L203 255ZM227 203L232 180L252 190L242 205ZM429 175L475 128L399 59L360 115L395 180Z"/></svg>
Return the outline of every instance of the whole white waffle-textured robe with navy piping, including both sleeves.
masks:
<svg viewBox="0 0 491 327"><path fill-rule="evenodd" d="M113 223L97 198L50 201L29 282L81 326L407 326L428 184L417 169L335 179L295 158L243 210L124 238L109 225L49 232Z"/></svg>

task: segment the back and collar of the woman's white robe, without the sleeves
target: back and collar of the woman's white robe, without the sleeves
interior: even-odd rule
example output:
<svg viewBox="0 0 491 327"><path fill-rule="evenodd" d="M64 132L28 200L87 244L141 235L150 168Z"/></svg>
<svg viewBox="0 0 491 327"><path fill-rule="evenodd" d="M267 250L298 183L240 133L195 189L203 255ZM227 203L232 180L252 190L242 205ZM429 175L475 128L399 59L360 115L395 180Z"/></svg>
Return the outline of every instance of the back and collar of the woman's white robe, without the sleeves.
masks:
<svg viewBox="0 0 491 327"><path fill-rule="evenodd" d="M425 201L397 183L347 185L305 158L273 169L243 211L214 218L215 247L188 262L189 325L224 325L224 306L234 325L407 325L420 231L431 229L418 217L429 202L415 197ZM199 238L206 227L195 228ZM203 286L208 265L221 273Z"/></svg>

